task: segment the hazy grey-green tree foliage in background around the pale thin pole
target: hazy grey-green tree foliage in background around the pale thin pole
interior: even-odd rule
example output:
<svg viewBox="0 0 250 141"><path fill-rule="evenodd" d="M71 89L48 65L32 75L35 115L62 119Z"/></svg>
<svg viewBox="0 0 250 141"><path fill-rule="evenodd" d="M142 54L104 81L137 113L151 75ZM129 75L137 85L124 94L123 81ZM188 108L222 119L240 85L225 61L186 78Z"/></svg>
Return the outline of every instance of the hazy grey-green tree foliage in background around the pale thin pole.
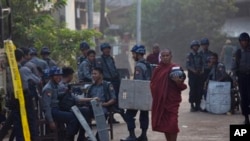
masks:
<svg viewBox="0 0 250 141"><path fill-rule="evenodd" d="M127 30L135 33L136 6L130 13ZM211 46L223 41L220 29L227 17L237 11L234 1L222 0L143 0L142 40L152 45L173 50L176 56L185 56L189 43L194 39L208 37ZM214 48L215 49L215 48ZM216 49L215 49L216 50ZM177 62L183 62L183 57Z"/></svg>

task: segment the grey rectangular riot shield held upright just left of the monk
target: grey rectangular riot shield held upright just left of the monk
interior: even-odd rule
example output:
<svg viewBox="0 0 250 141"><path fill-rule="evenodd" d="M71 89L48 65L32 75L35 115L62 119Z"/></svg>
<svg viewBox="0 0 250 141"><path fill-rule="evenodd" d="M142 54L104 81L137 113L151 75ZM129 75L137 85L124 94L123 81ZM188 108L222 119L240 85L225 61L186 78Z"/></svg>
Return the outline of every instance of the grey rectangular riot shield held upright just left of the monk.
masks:
<svg viewBox="0 0 250 141"><path fill-rule="evenodd" d="M123 109L151 110L150 81L122 79L119 107Z"/></svg>

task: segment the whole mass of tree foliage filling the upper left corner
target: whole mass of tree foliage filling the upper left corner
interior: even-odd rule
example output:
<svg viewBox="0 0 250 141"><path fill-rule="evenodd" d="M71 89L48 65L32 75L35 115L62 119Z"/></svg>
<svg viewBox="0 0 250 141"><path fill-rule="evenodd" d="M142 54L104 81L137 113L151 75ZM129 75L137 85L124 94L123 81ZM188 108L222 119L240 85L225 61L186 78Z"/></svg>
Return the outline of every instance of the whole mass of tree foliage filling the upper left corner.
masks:
<svg viewBox="0 0 250 141"><path fill-rule="evenodd" d="M3 0L1 0L3 1ZM65 23L55 21L54 10L64 7L67 0L11 0L12 40L17 47L34 46L38 50L47 46L51 56L60 65L70 64L76 68L79 44L83 40L93 44L93 37L99 37L95 30L75 31L66 28Z"/></svg>

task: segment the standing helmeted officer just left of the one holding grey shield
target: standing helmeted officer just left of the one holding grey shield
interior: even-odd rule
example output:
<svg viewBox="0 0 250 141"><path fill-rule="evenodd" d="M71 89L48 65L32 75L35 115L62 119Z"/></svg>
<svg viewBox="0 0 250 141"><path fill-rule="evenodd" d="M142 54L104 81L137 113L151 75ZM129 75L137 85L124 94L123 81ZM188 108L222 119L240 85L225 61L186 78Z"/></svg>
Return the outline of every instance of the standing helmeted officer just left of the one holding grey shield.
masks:
<svg viewBox="0 0 250 141"><path fill-rule="evenodd" d="M112 83L115 90L115 95L118 97L121 79L116 68L114 58L111 56L111 46L108 43L102 43L100 49L102 51L102 55L100 58L96 59L96 67L103 69L104 80ZM123 117L124 111L118 108L118 102L114 107L114 112L120 113ZM119 123L115 119L113 122Z"/></svg>

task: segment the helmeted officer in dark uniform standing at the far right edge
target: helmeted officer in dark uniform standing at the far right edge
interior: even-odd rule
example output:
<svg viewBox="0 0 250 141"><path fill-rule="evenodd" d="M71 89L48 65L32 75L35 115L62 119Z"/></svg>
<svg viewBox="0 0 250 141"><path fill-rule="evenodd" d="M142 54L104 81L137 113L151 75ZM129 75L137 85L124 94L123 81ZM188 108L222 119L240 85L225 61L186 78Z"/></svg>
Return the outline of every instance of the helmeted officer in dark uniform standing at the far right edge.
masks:
<svg viewBox="0 0 250 141"><path fill-rule="evenodd" d="M232 72L238 77L241 96L241 111L245 117L245 124L249 124L250 114L250 37L243 32L239 36L241 48L234 55Z"/></svg>

